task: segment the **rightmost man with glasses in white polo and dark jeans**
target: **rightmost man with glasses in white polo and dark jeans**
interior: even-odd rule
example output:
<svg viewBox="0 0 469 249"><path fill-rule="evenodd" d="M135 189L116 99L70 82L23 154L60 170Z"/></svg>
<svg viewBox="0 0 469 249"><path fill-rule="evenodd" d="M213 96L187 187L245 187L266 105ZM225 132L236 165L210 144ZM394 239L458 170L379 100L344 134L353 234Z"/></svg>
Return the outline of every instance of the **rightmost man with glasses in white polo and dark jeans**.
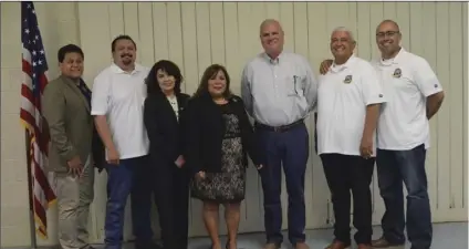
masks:
<svg viewBox="0 0 469 249"><path fill-rule="evenodd" d="M411 249L429 249L432 227L425 170L429 148L429 120L444 101L444 91L428 62L400 46L402 34L395 21L376 28L382 58L373 61L387 96L377 128L377 173L386 211L383 236L374 248L405 243L404 228ZM331 62L322 63L321 73ZM407 219L404 212L403 181L407 188Z"/></svg>

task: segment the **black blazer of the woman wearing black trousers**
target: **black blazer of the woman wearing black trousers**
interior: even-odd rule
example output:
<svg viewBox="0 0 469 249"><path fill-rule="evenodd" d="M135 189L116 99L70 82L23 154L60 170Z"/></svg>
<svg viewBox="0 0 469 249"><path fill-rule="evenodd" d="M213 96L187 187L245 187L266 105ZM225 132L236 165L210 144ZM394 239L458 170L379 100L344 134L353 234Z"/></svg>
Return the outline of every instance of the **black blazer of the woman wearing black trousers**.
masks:
<svg viewBox="0 0 469 249"><path fill-rule="evenodd" d="M169 101L163 93L149 94L144 104L144 123L149 139L149 155L153 162L171 164L184 154L185 108L189 95L176 94L179 122Z"/></svg>

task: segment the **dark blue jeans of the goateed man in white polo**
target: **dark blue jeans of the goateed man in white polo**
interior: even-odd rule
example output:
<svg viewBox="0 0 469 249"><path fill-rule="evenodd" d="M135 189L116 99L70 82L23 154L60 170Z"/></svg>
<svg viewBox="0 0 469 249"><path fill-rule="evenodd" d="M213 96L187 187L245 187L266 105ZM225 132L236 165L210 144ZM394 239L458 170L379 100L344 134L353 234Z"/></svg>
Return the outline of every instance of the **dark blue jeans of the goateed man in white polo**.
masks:
<svg viewBox="0 0 469 249"><path fill-rule="evenodd" d="M121 159L119 165L106 165L107 205L105 218L106 249L121 249L124 211L131 195L132 225L137 245L152 240L152 188L148 183L148 157Z"/></svg>

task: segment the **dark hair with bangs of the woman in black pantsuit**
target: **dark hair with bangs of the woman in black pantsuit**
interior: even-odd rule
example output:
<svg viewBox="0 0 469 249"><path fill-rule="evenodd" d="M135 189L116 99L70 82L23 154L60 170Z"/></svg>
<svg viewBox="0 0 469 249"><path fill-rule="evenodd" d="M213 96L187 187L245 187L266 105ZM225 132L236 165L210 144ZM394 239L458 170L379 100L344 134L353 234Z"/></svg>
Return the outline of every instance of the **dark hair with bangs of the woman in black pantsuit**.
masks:
<svg viewBox="0 0 469 249"><path fill-rule="evenodd" d="M147 93L163 93L158 84L158 79L156 76L158 70L161 70L168 75L174 76L176 79L175 93L180 93L180 83L183 82L183 75L176 63L167 60L160 60L152 66L152 70L149 71L148 76L145 80L145 83L147 85Z"/></svg>

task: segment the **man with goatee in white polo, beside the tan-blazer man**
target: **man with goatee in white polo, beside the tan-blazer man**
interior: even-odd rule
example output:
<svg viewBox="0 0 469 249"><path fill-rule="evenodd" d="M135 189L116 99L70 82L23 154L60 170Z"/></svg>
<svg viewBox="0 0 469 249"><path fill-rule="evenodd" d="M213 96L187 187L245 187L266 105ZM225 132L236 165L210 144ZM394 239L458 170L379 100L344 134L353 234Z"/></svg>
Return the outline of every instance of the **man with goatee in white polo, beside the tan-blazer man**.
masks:
<svg viewBox="0 0 469 249"><path fill-rule="evenodd" d="M114 63L94 80L91 111L106 147L106 249L122 248L129 194L136 249L152 249L152 191L146 170L149 142L143 123L144 82L149 70L135 63L136 44L128 35L114 39L112 53Z"/></svg>

